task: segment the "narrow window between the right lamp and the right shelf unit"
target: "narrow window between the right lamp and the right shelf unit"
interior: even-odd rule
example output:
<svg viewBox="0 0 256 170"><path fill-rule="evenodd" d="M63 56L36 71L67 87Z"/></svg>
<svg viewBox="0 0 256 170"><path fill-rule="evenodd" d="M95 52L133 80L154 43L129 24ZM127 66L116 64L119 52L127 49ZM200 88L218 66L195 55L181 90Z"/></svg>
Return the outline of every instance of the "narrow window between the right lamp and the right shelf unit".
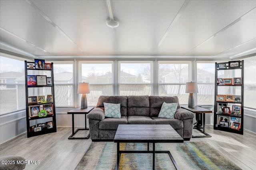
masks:
<svg viewBox="0 0 256 170"><path fill-rule="evenodd" d="M198 84L198 105L214 104L215 63L196 63L196 82Z"/></svg>

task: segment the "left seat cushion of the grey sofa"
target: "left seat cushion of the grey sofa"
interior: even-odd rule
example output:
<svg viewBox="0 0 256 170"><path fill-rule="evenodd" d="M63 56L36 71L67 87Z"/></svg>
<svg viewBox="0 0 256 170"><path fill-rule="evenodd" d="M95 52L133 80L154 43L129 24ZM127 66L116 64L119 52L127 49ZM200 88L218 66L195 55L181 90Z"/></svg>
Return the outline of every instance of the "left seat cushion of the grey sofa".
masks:
<svg viewBox="0 0 256 170"><path fill-rule="evenodd" d="M106 117L100 121L100 129L116 130L120 124L128 124L127 116L122 116L120 119Z"/></svg>

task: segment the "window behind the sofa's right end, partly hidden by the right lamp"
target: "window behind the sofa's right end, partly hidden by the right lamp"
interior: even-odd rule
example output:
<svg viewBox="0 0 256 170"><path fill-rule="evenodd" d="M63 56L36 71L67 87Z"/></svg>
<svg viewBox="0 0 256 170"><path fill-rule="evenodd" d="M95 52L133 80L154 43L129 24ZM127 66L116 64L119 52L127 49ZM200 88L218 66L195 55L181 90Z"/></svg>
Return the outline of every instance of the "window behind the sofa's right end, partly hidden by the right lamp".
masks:
<svg viewBox="0 0 256 170"><path fill-rule="evenodd" d="M188 104L185 88L186 82L190 80L189 67L189 62L159 61L158 95L178 96L180 104Z"/></svg>

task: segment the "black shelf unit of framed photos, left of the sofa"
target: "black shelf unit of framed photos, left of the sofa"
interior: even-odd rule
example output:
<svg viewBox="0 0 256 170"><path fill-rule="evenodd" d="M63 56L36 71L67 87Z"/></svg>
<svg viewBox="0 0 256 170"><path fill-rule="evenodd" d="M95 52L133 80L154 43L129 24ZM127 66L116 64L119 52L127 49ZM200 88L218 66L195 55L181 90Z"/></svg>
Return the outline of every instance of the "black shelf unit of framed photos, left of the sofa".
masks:
<svg viewBox="0 0 256 170"><path fill-rule="evenodd" d="M33 137L38 135L43 135L47 133L56 132L56 111L55 111L55 100L54 100L54 76L53 76L53 63L49 69L38 69L33 66L30 68L30 64L33 62L25 63L25 88L26 88L26 122L27 122L27 137ZM38 81L36 80L36 85L29 86L28 80L29 77L46 77L46 85L37 85ZM43 79L44 80L44 79ZM49 80L49 82L48 82ZM51 81L50 81L51 80ZM38 101L38 96L44 96L46 102ZM52 96L49 101L47 101L47 96ZM29 101L30 100L30 101ZM35 100L35 101L32 101ZM38 113L35 116L32 116L34 112L32 110L47 111L45 113ZM47 110L49 108L49 110ZM42 115L42 117L39 116ZM37 116L36 116L37 115ZM35 129L35 127L39 127Z"/></svg>

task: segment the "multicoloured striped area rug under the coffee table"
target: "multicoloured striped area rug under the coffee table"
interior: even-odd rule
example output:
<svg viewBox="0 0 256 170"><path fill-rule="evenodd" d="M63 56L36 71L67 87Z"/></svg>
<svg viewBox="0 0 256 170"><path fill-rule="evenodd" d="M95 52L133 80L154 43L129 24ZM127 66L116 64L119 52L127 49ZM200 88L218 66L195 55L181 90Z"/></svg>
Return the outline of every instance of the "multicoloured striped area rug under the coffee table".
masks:
<svg viewBox="0 0 256 170"><path fill-rule="evenodd" d="M120 150L147 150L147 143L120 143ZM150 145L152 150L152 144ZM180 170L241 170L206 142L156 143L156 150L170 150ZM93 142L76 170L115 170L116 143ZM152 154L122 153L119 170L151 170ZM165 153L156 153L156 170L174 170Z"/></svg>

